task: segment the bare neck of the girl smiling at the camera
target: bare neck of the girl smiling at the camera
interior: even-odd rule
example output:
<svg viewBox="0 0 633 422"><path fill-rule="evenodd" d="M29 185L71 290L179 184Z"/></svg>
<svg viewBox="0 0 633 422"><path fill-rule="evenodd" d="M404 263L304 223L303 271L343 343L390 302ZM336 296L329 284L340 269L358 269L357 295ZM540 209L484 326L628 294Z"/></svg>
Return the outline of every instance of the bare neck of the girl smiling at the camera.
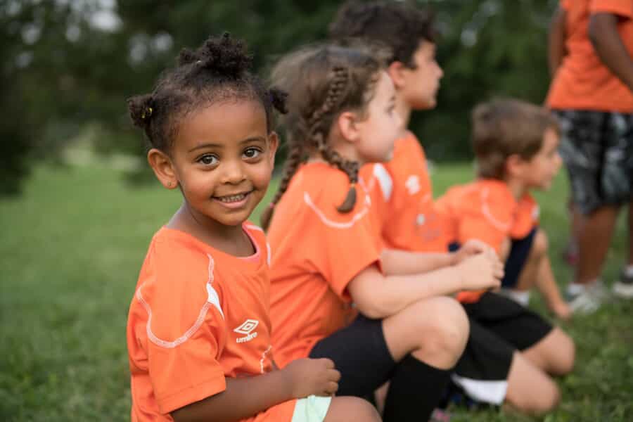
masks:
<svg viewBox="0 0 633 422"><path fill-rule="evenodd" d="M199 241L229 255L248 257L255 253L255 248L241 224L226 226L209 217L198 215L186 201L170 219L167 227L191 234Z"/></svg>

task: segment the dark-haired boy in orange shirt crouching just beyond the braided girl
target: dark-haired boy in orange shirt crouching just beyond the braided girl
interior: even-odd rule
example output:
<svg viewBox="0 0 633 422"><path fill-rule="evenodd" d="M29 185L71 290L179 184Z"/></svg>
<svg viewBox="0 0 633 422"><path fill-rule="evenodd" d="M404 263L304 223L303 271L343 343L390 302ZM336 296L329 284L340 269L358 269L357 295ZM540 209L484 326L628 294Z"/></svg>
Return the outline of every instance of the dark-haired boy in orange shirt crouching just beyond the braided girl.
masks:
<svg viewBox="0 0 633 422"><path fill-rule="evenodd" d="M396 111L405 123L412 110L435 107L442 70L435 61L428 13L398 2L352 1L340 9L330 34L335 39L380 41L390 48L387 71L395 85ZM419 274L449 268L463 252L490 249L471 240L461 252L447 253L426 158L411 132L396 141L392 160L366 165L361 175L372 189L372 207L379 215L377 232L386 246L381 251L385 271ZM471 248L466 248L469 243ZM485 303L491 309L503 307L511 312L506 321L488 324L486 312L465 308L472 312L468 315L471 331L453 380L470 397L482 402L508 402L530 413L552 409L558 402L558 388L544 371L569 371L573 342L558 328L552 329L538 315L501 295L486 293ZM537 335L523 338L523 324L533 326ZM507 328L504 332L510 331L515 338L501 338L499 327ZM534 345L534 338L543 341Z"/></svg>

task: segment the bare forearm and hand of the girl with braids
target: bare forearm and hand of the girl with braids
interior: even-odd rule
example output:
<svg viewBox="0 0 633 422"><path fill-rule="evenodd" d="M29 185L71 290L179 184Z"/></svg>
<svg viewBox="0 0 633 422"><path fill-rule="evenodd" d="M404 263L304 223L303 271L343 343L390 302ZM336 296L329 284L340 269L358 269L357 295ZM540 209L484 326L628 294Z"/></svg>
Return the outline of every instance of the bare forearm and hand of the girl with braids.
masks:
<svg viewBox="0 0 633 422"><path fill-rule="evenodd" d="M503 274L503 264L497 255L484 252L425 274L384 276L374 264L355 276L347 291L362 314L381 319L425 298L461 290L497 288Z"/></svg>

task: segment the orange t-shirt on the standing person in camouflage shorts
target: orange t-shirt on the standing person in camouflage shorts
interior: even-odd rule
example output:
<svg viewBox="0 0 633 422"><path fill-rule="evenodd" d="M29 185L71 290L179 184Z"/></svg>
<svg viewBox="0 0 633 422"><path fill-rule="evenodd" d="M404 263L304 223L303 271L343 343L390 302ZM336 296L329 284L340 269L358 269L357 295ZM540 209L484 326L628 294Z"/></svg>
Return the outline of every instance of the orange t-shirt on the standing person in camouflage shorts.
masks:
<svg viewBox="0 0 633 422"><path fill-rule="evenodd" d="M633 57L632 0L563 0L567 12L563 58L549 89L546 103L550 108L615 111L633 113L633 93L602 63L589 40L589 17L594 13L613 13L620 38Z"/></svg>

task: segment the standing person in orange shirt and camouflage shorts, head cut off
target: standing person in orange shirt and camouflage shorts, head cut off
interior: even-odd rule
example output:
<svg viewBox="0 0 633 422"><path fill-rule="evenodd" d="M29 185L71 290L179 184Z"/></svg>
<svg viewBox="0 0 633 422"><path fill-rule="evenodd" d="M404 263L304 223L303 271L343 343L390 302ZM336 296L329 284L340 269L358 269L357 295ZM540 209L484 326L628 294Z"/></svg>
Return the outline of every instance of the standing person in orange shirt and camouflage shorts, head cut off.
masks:
<svg viewBox="0 0 633 422"><path fill-rule="evenodd" d="M633 298L633 1L561 1L550 34L555 70L546 99L561 122L561 156L582 213L578 263L568 285L575 312L606 298L601 271L622 205L629 205L629 259L614 292Z"/></svg>

